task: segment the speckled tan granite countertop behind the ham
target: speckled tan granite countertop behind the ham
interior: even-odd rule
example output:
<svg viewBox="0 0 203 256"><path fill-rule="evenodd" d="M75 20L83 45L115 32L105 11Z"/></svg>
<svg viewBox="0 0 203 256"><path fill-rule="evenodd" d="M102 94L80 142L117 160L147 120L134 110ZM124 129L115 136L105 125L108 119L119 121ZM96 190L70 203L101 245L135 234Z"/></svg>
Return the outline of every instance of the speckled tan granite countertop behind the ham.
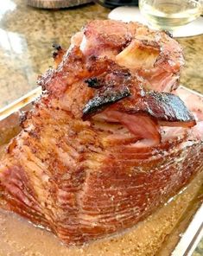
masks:
<svg viewBox="0 0 203 256"><path fill-rule="evenodd" d="M68 48L71 35L110 10L87 4L69 10L37 10L23 0L0 3L0 108L35 88L38 74L52 65L52 43ZM179 40L186 66L181 83L203 93L203 35ZM203 242L193 254L203 255Z"/></svg>

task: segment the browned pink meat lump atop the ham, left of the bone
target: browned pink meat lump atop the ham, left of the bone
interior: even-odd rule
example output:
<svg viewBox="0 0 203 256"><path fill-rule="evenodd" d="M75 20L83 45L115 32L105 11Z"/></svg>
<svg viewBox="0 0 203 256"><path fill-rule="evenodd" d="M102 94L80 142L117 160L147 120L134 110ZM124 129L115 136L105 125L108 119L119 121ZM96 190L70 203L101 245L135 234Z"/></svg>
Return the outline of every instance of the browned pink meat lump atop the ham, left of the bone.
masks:
<svg viewBox="0 0 203 256"><path fill-rule="evenodd" d="M80 48L86 55L115 58L132 40L140 24L110 20L88 22L83 29Z"/></svg>

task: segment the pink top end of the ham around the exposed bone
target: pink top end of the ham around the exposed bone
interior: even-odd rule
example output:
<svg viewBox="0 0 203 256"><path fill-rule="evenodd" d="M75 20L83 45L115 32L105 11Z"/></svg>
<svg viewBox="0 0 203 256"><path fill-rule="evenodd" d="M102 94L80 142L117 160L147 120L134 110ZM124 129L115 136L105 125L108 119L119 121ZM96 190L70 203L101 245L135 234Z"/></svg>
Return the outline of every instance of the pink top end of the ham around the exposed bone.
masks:
<svg viewBox="0 0 203 256"><path fill-rule="evenodd" d="M178 86L182 48L164 32L136 22L94 21L86 24L72 44L87 56L107 56L132 73L139 72L156 91L171 92Z"/></svg>

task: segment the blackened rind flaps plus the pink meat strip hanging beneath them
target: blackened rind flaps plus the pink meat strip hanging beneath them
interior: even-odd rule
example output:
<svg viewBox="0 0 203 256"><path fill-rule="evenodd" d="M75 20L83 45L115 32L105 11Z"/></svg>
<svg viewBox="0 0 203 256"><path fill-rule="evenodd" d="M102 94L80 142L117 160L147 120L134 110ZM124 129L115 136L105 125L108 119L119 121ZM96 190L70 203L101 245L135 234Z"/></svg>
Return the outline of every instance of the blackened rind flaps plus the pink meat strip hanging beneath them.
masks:
<svg viewBox="0 0 203 256"><path fill-rule="evenodd" d="M95 94L83 108L84 118L102 112L95 118L120 122L138 139L149 139L149 144L161 141L157 124L182 127L196 124L193 114L178 96L148 91L142 80L131 75L128 69L113 65L105 74L86 83L94 88Z"/></svg>

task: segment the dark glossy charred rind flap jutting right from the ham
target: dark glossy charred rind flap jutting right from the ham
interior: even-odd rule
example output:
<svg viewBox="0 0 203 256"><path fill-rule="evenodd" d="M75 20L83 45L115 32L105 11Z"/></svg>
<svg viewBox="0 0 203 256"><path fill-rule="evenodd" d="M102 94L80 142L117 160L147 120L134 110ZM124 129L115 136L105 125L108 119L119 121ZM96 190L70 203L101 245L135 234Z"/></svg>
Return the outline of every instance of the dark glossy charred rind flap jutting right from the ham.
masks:
<svg viewBox="0 0 203 256"><path fill-rule="evenodd" d="M145 92L143 97L133 104L120 102L117 110L129 114L149 114L157 119L160 125L192 127L196 124L193 113L172 93Z"/></svg>

